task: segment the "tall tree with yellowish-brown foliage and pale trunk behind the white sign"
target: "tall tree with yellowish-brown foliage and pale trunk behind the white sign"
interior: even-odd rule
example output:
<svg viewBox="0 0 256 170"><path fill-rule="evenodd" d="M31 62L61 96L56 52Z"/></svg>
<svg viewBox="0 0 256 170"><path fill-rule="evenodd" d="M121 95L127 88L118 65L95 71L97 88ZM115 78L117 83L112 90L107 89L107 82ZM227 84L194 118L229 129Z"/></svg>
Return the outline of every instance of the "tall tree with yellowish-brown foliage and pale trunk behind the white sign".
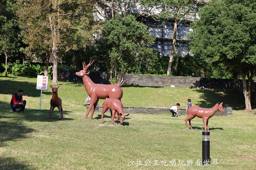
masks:
<svg viewBox="0 0 256 170"><path fill-rule="evenodd" d="M51 51L56 85L58 54L86 47L92 40L92 0L18 0L18 4L22 36L30 49Z"/></svg>

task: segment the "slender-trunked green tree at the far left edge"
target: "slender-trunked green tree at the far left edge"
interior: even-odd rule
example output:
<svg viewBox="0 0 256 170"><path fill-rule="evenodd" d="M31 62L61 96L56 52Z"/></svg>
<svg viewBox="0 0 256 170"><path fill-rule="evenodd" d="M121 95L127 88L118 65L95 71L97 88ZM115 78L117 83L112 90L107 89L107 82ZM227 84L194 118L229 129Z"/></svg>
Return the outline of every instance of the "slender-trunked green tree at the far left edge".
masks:
<svg viewBox="0 0 256 170"><path fill-rule="evenodd" d="M0 54L5 55L5 75L7 76L8 58L20 51L21 39L18 37L16 4L12 0L3 0L0 4Z"/></svg>

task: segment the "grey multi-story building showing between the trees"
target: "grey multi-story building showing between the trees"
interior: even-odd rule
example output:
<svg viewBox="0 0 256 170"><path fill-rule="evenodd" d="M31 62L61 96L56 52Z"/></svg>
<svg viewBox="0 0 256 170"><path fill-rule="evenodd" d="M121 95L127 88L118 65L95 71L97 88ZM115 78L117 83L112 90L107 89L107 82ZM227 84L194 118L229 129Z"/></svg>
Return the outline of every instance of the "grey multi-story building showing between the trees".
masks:
<svg viewBox="0 0 256 170"><path fill-rule="evenodd" d="M208 2L208 0L200 0L202 3L201 5L195 6L196 8L200 8L202 4ZM139 3L137 3L133 8L126 11L127 14L137 15L141 13L139 9L143 9ZM111 18L110 10L105 10ZM160 12L160 10L154 9L154 14L157 14ZM120 13L120 12L119 12ZM120 13L120 15L122 15ZM100 16L98 16L100 18ZM198 18L198 14L195 13L194 16L190 16L190 18L193 20L195 18ZM177 27L177 34L176 34L176 48L175 53L179 53L182 56L190 53L189 48L189 40L187 38L187 35L192 31L190 28L190 23L192 20L186 21L186 22L179 22ZM155 45L153 45L153 48L156 48L162 56L168 56L171 55L172 51L172 41L173 41L173 32L174 32L174 22L156 22L152 20L150 17L148 18L137 18L138 22L143 22L148 26L148 32L156 38Z"/></svg>

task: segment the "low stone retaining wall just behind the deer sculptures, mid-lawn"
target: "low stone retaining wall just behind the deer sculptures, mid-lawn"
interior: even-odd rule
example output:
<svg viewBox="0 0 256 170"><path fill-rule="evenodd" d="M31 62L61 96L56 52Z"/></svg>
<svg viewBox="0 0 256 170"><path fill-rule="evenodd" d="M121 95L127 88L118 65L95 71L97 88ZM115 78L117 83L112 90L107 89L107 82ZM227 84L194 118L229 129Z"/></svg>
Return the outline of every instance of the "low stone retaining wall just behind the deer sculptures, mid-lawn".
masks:
<svg viewBox="0 0 256 170"><path fill-rule="evenodd" d="M217 111L214 116L232 116L232 107L223 107L224 112ZM95 108L96 112L102 112L102 107L99 105ZM138 113L138 114L163 114L171 113L170 109L163 108L144 108L144 107L124 107L124 113ZM107 112L110 112L109 109ZM178 109L178 115L187 115L186 109Z"/></svg>

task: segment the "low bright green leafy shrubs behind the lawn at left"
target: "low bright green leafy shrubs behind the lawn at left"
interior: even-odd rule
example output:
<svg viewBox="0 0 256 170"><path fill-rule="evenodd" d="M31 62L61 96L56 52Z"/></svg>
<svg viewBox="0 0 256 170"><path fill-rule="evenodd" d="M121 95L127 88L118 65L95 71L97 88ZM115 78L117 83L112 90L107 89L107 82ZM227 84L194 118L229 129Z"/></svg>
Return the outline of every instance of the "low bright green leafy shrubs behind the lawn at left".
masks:
<svg viewBox="0 0 256 170"><path fill-rule="evenodd" d="M5 68L5 64L2 63L1 67ZM17 60L15 63L7 63L7 72L9 75L22 75L22 76L28 76L28 77L34 77L36 75L44 75L44 65L39 64L31 64L30 61L24 61L23 63L20 63L19 60ZM50 73L52 72L52 69L48 67L48 76L50 76ZM5 72L3 72L1 75L5 75Z"/></svg>

